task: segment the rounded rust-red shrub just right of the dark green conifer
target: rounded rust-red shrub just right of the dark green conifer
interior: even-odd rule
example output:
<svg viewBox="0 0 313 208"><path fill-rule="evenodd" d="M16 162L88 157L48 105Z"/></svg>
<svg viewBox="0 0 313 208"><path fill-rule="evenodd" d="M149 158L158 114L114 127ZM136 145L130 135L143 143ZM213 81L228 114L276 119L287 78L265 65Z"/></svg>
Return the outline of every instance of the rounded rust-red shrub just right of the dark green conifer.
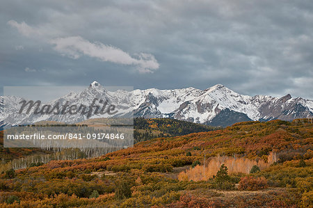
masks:
<svg viewBox="0 0 313 208"><path fill-rule="evenodd" d="M239 182L239 190L256 191L267 188L267 180L265 177L242 177Z"/></svg>

